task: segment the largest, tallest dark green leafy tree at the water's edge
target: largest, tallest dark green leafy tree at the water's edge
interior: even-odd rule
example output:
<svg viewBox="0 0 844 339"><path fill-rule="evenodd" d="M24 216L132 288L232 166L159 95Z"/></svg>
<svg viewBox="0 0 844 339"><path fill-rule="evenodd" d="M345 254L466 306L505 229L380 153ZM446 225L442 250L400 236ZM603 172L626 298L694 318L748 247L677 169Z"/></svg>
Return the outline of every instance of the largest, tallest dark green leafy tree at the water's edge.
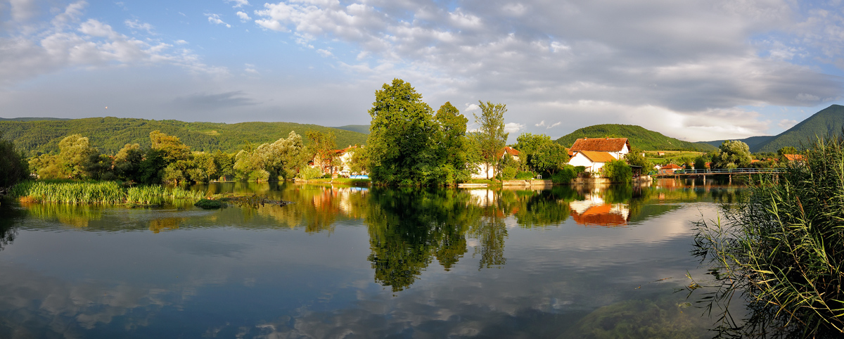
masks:
<svg viewBox="0 0 844 339"><path fill-rule="evenodd" d="M437 130L422 94L401 79L376 90L366 149L371 178L386 185L428 185L436 181Z"/></svg>

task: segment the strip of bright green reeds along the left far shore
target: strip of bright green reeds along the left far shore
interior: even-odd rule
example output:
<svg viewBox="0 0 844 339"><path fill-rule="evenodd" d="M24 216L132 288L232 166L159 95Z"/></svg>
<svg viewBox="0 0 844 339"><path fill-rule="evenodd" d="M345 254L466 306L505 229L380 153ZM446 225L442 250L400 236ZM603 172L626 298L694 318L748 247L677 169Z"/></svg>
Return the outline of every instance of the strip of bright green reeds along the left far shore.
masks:
<svg viewBox="0 0 844 339"><path fill-rule="evenodd" d="M24 181L12 187L9 195L26 202L90 205L163 205L176 200L195 203L205 194L181 187L124 187L116 181L49 182Z"/></svg>

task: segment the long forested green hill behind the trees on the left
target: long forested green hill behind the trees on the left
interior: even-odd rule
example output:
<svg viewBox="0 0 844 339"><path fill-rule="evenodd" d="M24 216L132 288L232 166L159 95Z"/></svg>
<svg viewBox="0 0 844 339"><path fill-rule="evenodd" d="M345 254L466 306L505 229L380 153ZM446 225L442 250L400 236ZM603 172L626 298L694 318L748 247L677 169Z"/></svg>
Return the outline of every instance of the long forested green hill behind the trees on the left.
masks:
<svg viewBox="0 0 844 339"><path fill-rule="evenodd" d="M339 148L366 143L366 135L362 133L293 122L226 124L115 117L60 121L0 121L0 133L3 138L12 140L19 149L30 154L57 152L58 143L71 134L88 137L102 153L115 154L127 143L139 143L142 147L149 147L149 132L155 130L179 137L182 143L194 151L206 152L218 149L229 153L236 152L246 142L256 145L272 143L280 137L287 137L290 131L299 133L306 143L305 132L309 130L334 132Z"/></svg>

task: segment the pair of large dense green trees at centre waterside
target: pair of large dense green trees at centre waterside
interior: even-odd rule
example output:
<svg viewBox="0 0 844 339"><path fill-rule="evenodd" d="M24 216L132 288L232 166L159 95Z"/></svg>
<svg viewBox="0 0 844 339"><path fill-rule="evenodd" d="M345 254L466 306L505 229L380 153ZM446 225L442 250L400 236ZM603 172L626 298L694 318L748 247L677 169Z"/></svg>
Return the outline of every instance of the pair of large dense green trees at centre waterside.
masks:
<svg viewBox="0 0 844 339"><path fill-rule="evenodd" d="M371 179L383 185L443 185L468 178L466 119L451 104L434 116L401 79L376 91L367 147ZM461 147L463 145L463 147Z"/></svg>

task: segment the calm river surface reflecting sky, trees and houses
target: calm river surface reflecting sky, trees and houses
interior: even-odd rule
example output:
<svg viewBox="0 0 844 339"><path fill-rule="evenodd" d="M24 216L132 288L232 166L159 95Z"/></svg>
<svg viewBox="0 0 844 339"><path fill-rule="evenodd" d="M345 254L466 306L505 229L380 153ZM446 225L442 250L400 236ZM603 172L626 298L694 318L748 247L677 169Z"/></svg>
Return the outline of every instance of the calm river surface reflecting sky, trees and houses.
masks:
<svg viewBox="0 0 844 339"><path fill-rule="evenodd" d="M2 202L0 337L706 337L690 221L739 191L194 189L294 203Z"/></svg>

